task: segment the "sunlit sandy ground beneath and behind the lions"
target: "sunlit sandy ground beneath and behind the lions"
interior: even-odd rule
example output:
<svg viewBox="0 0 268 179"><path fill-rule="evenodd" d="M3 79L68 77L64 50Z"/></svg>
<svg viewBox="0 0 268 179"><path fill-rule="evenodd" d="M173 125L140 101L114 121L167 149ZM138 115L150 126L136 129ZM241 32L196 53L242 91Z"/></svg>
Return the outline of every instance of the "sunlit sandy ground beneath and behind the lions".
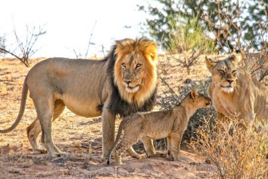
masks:
<svg viewBox="0 0 268 179"><path fill-rule="evenodd" d="M31 60L31 66L44 59ZM164 60L164 57L160 57ZM184 80L199 80L210 74L204 65L204 58L192 68L186 69L170 62L166 69L159 67L159 76L174 87L181 87ZM8 128L17 118L23 80L30 68L19 60L0 60L0 128ZM164 72L165 71L165 72ZM165 91L159 83L159 93ZM157 107L156 107L157 108ZM206 164L204 158L182 146L179 161L165 158L146 158L142 145L135 150L143 158L133 159L126 153L126 165L107 165L101 161L101 119L82 118L68 109L53 123L53 139L67 156L51 158L48 154L33 155L26 136L26 127L36 118L32 100L28 97L24 116L18 127L0 135L0 178L14 175L38 176L41 178L123 178L123 179L214 179L215 166ZM120 119L116 119L116 130Z"/></svg>

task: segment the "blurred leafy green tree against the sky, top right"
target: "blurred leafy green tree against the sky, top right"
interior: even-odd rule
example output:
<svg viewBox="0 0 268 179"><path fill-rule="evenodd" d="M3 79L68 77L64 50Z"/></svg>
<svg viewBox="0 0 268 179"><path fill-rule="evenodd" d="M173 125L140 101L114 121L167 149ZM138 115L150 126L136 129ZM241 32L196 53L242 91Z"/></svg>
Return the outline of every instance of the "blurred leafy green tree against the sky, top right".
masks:
<svg viewBox="0 0 268 179"><path fill-rule="evenodd" d="M150 0L147 6L138 5L138 7L140 11L150 15L144 22L144 30L149 32L164 49L172 51L175 49L176 43L173 44L171 37L176 32L177 29L174 27L177 25L178 27L184 27L185 24L191 24L196 21L196 26L202 27L203 34L222 30L218 29L218 24L220 23L218 17L219 3L221 4L220 11L222 12L220 16L226 16L227 14L230 19L234 17L232 21L227 20L226 24L230 26L230 33L233 34L233 37L237 39L243 36L245 43L249 44L252 41L252 47L260 50L263 44L261 43L259 24L262 27L266 24L267 0ZM213 23L212 29L208 27L208 23L202 18L204 14L210 17ZM192 17L195 17L196 20L192 20ZM176 25L174 25L174 20ZM242 33L235 26L238 26ZM215 41L218 50L221 51L224 47L230 47L232 51L238 51L237 44L234 43L235 39L232 37L227 37L226 39L223 36L220 38L219 41Z"/></svg>

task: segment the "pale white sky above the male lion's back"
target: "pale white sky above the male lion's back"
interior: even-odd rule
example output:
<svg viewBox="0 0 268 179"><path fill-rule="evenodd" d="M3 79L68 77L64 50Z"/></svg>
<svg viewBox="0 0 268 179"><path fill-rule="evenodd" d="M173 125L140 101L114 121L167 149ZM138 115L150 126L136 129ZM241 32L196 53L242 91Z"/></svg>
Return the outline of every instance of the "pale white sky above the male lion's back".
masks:
<svg viewBox="0 0 268 179"><path fill-rule="evenodd" d="M0 2L0 35L6 34L6 45L15 48L13 21L21 38L26 27L45 25L47 33L36 47L34 57L75 58L73 49L85 53L96 21L88 57L102 56L101 45L109 50L115 40L141 37L139 23L148 16L138 11L144 0L2 0ZM131 28L124 28L125 25ZM106 53L107 54L107 53Z"/></svg>

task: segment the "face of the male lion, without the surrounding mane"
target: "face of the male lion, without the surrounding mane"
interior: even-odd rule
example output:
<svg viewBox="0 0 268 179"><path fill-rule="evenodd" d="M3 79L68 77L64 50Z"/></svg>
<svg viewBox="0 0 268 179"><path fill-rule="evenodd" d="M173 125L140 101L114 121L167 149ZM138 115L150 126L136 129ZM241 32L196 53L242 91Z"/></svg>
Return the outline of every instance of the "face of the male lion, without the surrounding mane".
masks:
<svg viewBox="0 0 268 179"><path fill-rule="evenodd" d="M140 55L127 55L121 60L122 83L128 93L139 90L144 76L144 59Z"/></svg>

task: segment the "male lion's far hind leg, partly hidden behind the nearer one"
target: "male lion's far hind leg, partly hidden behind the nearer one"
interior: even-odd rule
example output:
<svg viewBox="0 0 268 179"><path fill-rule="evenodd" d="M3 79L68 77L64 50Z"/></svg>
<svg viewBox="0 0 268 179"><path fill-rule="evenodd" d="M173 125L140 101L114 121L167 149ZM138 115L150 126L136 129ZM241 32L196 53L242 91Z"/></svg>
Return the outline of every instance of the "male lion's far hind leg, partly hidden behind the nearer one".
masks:
<svg viewBox="0 0 268 179"><path fill-rule="evenodd" d="M55 102L54 114L53 114L53 121L58 118L58 116L63 112L65 105L62 101L57 100ZM39 122L38 117L35 121L27 127L27 136L30 142L30 145L33 148L34 154L44 154L47 151L45 149L41 149L39 142L38 142L38 135L41 132L41 125ZM60 152L60 151L58 151Z"/></svg>

